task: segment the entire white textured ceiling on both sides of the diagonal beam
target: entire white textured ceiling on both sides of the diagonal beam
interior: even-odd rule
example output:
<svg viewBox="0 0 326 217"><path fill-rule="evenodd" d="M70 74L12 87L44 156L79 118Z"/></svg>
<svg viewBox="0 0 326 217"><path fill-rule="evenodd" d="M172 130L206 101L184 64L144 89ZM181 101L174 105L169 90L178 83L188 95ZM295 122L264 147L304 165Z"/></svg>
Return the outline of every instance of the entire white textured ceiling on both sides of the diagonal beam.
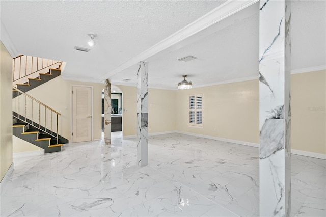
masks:
<svg viewBox="0 0 326 217"><path fill-rule="evenodd" d="M4 26L18 53L67 62L67 79L107 76L112 84L135 85L136 66L121 66L225 2L1 1L0 36ZM292 1L291 9L292 70L325 67L326 1ZM74 50L89 48L88 32L97 33L96 46ZM258 77L258 41L256 3L145 58L149 85L176 89L182 74L194 87ZM187 55L197 59L177 61Z"/></svg>

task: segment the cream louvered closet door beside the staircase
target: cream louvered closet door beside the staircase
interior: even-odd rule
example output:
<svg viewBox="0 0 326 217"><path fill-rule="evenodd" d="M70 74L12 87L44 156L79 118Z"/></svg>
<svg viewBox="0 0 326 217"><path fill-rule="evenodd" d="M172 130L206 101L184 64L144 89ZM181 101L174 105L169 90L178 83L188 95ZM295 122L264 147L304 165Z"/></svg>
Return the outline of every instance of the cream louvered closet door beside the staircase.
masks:
<svg viewBox="0 0 326 217"><path fill-rule="evenodd" d="M92 140L92 88L72 87L73 142Z"/></svg>

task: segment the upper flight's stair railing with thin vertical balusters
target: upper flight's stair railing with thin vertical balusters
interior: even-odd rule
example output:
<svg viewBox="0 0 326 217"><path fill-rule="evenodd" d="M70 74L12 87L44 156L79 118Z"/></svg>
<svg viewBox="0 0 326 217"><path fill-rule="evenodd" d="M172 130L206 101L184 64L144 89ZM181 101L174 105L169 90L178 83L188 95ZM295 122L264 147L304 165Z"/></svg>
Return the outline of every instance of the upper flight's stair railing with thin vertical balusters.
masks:
<svg viewBox="0 0 326 217"><path fill-rule="evenodd" d="M48 67L60 69L62 61L49 60L40 57L20 55L13 59L12 82L41 71ZM35 78L35 77L32 77Z"/></svg>

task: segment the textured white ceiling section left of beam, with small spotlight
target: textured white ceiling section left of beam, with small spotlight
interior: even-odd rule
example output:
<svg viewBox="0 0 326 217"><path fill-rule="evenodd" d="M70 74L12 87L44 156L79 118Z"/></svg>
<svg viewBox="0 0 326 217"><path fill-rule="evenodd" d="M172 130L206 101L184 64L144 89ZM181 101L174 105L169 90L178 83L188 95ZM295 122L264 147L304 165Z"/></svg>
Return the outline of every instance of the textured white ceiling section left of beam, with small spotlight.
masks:
<svg viewBox="0 0 326 217"><path fill-rule="evenodd" d="M225 1L1 1L19 53L67 62L64 75L97 78ZM88 32L97 33L89 53Z"/></svg>

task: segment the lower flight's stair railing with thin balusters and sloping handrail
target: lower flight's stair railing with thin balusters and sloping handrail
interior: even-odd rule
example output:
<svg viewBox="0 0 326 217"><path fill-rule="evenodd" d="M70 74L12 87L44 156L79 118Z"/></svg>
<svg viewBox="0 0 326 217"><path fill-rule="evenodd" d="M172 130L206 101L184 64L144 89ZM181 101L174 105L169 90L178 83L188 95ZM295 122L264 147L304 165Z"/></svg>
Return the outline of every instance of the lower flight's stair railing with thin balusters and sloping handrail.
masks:
<svg viewBox="0 0 326 217"><path fill-rule="evenodd" d="M13 91L18 91L18 97L13 99L14 116L24 122L28 122L43 132L55 136L58 144L59 116L61 114L21 90L15 87L12 87L12 89ZM55 118L53 119L52 116L55 116ZM44 127L42 127L42 125ZM55 133L55 135L53 135L53 133Z"/></svg>

